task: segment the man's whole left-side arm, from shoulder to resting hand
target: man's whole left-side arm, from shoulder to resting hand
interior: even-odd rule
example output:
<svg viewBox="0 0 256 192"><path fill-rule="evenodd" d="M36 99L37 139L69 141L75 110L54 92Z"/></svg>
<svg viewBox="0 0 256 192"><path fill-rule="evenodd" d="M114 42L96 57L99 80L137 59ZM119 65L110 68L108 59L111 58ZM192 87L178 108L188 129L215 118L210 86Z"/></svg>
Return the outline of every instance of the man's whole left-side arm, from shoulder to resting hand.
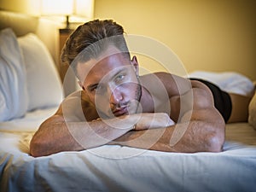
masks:
<svg viewBox="0 0 256 192"><path fill-rule="evenodd" d="M90 110L90 107L87 106L86 110ZM90 114L94 116L93 113ZM40 125L32 137L30 152L32 156L43 156L98 147L125 135L134 129L135 124L138 127L143 125L143 129L151 129L173 125L173 122L165 113L144 113L143 116L133 114L86 121L80 97L73 96L64 100L55 115Z"/></svg>

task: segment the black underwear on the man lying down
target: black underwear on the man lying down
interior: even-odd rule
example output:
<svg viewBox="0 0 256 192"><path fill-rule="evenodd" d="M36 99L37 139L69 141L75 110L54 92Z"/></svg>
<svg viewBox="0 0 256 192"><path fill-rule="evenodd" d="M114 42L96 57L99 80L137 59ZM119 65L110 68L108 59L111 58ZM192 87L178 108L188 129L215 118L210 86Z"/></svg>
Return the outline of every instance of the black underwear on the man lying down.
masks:
<svg viewBox="0 0 256 192"><path fill-rule="evenodd" d="M222 114L224 121L227 122L230 119L230 114L232 111L230 95L224 90L220 90L217 85L212 84L206 80L195 78L190 78L190 80L197 80L207 85L207 87L212 91L215 108L218 109L219 113Z"/></svg>

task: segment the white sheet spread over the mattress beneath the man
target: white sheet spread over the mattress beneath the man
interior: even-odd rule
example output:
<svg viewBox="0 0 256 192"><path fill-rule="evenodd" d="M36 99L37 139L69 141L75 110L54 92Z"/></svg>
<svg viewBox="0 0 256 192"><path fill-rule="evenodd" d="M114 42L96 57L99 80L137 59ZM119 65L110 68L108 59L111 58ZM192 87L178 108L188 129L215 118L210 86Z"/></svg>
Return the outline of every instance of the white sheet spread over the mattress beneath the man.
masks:
<svg viewBox="0 0 256 192"><path fill-rule="evenodd" d="M1 191L227 192L256 189L256 146L243 141L238 143L229 133L239 126L252 131L248 124L228 125L227 137L230 138L221 153L165 153L106 145L33 158L28 154L32 134L54 112L55 108L45 109L28 113L24 119L1 123ZM14 127L10 127L12 125Z"/></svg>

